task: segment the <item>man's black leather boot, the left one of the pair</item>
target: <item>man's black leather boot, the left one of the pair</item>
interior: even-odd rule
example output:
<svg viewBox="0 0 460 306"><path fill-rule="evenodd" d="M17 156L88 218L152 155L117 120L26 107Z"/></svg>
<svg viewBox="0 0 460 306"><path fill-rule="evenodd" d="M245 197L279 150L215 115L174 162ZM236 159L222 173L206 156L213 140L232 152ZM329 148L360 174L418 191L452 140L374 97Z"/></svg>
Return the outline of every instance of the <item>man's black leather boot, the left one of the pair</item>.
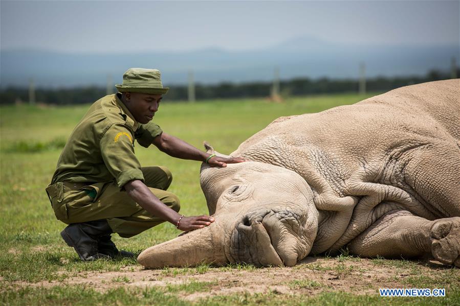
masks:
<svg viewBox="0 0 460 306"><path fill-rule="evenodd" d="M82 261L110 258L98 251L98 237L112 233L106 220L73 223L61 231L62 239L73 247Z"/></svg>

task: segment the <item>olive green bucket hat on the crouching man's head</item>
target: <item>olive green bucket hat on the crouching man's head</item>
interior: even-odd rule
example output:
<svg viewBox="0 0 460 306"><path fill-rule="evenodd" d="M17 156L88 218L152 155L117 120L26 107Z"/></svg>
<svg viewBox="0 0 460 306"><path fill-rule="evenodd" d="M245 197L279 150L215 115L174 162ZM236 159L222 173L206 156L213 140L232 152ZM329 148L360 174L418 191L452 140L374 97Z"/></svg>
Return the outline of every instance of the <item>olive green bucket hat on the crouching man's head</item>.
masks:
<svg viewBox="0 0 460 306"><path fill-rule="evenodd" d="M118 91L141 92L164 95L169 87L163 87L157 69L129 68L123 74L123 84L115 85Z"/></svg>

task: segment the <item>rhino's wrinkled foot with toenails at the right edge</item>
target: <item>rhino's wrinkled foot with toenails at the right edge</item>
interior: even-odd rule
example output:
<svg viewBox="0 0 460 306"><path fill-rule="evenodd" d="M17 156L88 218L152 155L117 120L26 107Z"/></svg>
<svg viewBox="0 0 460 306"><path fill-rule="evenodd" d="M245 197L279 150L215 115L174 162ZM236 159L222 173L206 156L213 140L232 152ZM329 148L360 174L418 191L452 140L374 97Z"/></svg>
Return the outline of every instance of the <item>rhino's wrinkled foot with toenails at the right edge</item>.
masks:
<svg viewBox="0 0 460 306"><path fill-rule="evenodd" d="M430 234L434 258L443 264L460 267L460 217L438 220Z"/></svg>

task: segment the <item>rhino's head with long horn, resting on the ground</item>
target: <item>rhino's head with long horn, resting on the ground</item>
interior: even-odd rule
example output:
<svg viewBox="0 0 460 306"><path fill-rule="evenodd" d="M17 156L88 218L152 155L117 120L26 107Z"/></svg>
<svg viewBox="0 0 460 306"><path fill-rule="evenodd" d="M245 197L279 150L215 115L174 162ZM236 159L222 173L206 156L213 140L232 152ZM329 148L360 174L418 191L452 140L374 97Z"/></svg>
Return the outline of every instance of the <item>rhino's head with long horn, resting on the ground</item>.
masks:
<svg viewBox="0 0 460 306"><path fill-rule="evenodd" d="M310 186L300 175L246 161L226 168L202 164L200 178L215 221L146 249L138 257L141 265L293 266L308 255L316 237L318 211Z"/></svg>

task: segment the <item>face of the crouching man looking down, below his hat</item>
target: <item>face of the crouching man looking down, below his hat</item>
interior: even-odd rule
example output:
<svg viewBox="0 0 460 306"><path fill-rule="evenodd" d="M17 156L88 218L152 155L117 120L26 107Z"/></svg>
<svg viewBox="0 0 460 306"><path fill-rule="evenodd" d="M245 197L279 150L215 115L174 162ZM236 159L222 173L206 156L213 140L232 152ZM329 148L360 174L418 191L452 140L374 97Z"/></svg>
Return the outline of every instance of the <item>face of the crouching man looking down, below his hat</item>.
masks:
<svg viewBox="0 0 460 306"><path fill-rule="evenodd" d="M133 114L137 122L146 124L154 118L155 113L160 106L162 96L160 94L152 95L150 93L126 92L126 107Z"/></svg>

